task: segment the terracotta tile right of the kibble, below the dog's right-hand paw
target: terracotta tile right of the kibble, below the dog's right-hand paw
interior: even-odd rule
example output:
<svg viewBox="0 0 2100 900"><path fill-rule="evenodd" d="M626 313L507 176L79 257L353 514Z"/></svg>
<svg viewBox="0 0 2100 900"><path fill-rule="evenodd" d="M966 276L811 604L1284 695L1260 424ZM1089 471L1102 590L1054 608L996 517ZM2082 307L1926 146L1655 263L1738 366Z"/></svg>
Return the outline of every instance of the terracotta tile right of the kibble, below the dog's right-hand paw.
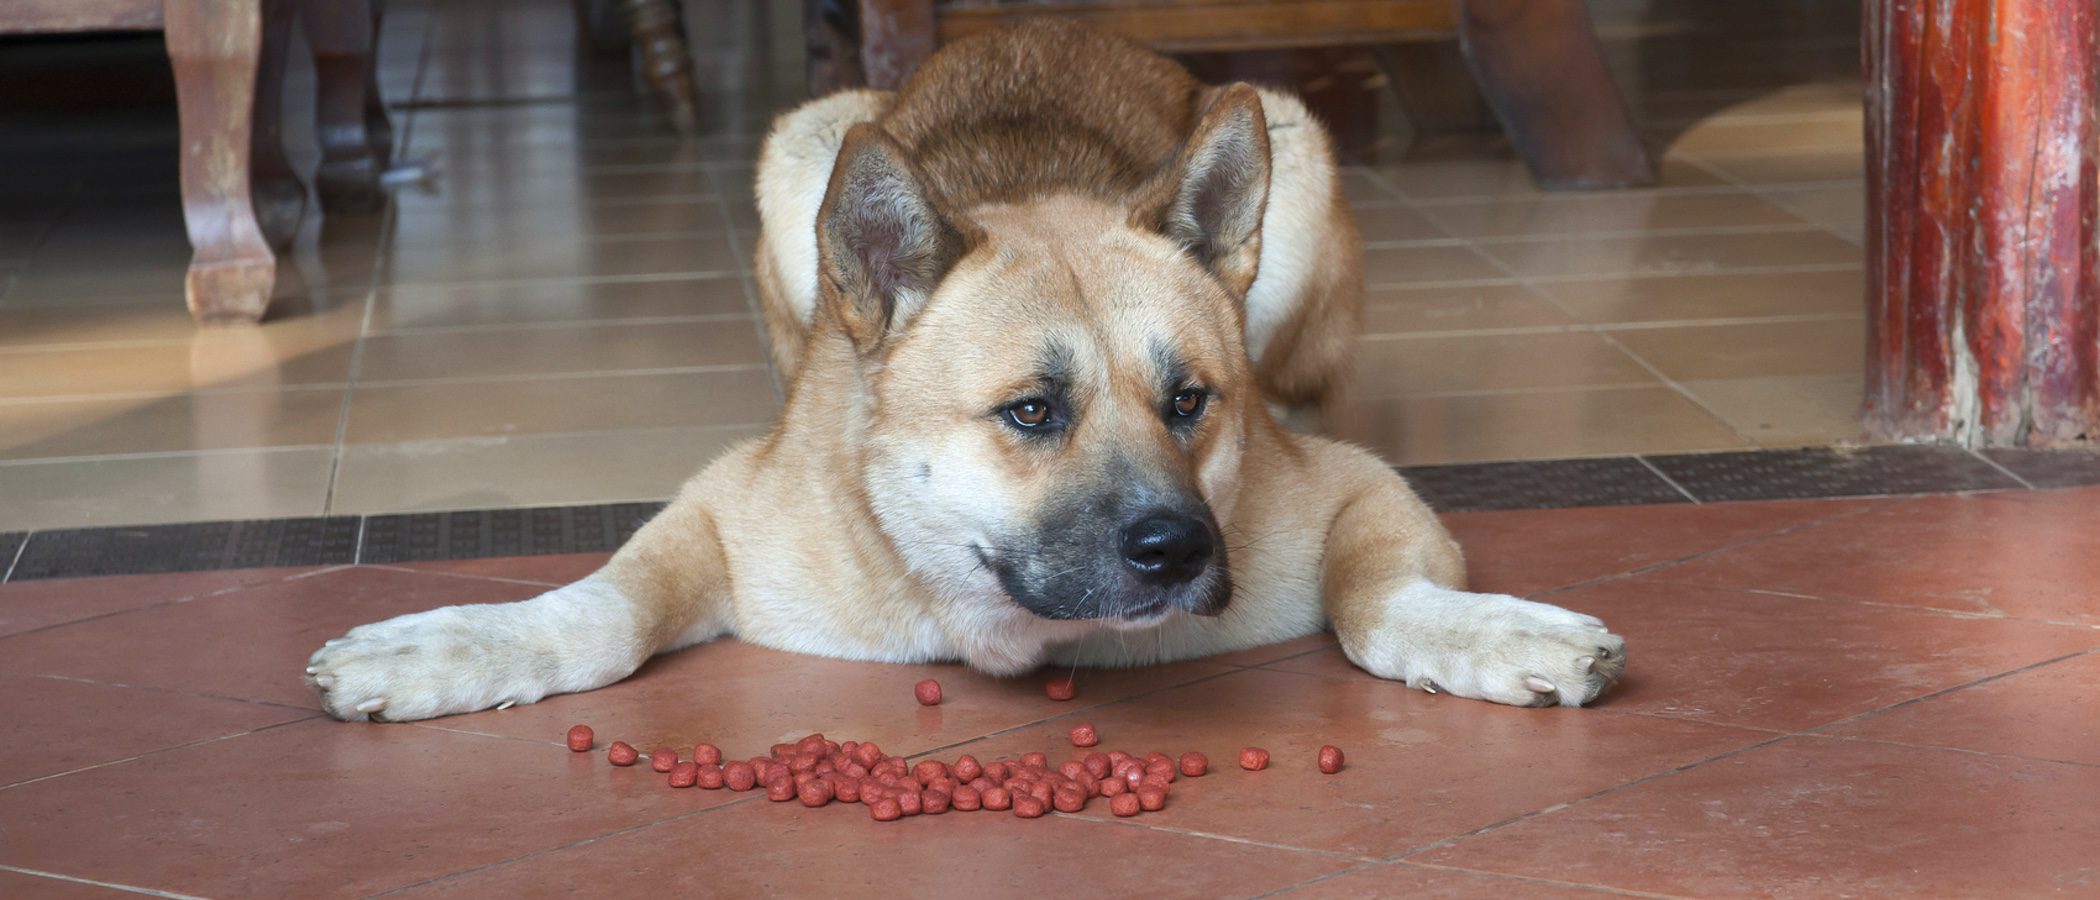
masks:
<svg viewBox="0 0 2100 900"><path fill-rule="evenodd" d="M1327 680L1243 669L1016 728L941 757L1046 751L1063 762L1075 753L1069 730L1077 722L1096 726L1100 749L1203 751L1212 759L1210 774L1178 780L1168 808L1140 824L1371 858L1762 738L1659 717L1495 707L1369 676ZM1336 776L1312 766L1325 743L1348 755ZM1270 768L1243 772L1241 747L1266 749ZM1098 801L1079 814L1109 818Z"/></svg>

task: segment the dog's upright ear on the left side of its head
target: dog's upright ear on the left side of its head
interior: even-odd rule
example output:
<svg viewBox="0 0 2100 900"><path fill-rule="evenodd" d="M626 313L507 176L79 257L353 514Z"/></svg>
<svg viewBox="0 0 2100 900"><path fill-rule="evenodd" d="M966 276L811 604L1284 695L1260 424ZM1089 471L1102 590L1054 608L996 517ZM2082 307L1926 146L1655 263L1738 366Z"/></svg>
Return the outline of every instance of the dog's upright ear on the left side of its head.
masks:
<svg viewBox="0 0 2100 900"><path fill-rule="evenodd" d="M846 132L817 212L823 306L861 350L903 329L962 254L962 233L880 126Z"/></svg>

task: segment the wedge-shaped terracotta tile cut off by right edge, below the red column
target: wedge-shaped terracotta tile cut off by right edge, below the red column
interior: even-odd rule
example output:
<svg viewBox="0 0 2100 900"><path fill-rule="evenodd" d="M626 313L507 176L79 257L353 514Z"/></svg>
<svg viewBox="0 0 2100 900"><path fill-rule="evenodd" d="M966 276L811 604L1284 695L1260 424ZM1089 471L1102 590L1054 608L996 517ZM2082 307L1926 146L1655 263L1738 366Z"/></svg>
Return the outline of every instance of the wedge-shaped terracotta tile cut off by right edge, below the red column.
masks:
<svg viewBox="0 0 2100 900"><path fill-rule="evenodd" d="M2014 753L2100 766L2100 655L2083 655L1903 709L1829 734Z"/></svg>

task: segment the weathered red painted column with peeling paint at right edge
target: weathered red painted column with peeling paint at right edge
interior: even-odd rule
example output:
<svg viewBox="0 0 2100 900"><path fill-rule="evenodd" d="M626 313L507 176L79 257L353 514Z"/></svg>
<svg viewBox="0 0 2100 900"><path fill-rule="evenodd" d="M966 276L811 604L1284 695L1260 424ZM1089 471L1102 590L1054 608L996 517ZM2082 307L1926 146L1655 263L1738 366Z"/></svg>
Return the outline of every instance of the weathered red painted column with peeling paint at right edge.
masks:
<svg viewBox="0 0 2100 900"><path fill-rule="evenodd" d="M2100 443L2100 6L1867 0L1863 52L1867 430Z"/></svg>

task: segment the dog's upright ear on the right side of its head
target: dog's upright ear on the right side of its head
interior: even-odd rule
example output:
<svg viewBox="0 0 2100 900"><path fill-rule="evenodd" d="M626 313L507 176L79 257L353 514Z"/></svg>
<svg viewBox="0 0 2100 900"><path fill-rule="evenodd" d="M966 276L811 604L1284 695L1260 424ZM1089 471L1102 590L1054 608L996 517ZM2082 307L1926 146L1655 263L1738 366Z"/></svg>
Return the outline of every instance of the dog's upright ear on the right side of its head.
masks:
<svg viewBox="0 0 2100 900"><path fill-rule="evenodd" d="M1235 296L1262 258L1268 206L1268 122L1245 84L1216 92L1182 149L1132 201L1130 224L1172 237Z"/></svg>

